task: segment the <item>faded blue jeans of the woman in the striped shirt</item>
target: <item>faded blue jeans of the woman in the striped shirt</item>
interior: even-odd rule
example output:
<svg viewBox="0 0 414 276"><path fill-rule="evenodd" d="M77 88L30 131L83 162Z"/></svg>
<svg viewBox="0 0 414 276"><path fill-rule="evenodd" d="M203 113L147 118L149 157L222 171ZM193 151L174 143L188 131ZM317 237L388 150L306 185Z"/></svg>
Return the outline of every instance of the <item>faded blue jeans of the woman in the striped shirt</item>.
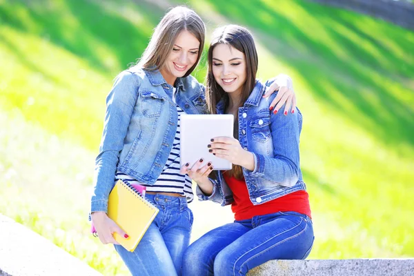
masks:
<svg viewBox="0 0 414 276"><path fill-rule="evenodd" d="M134 252L115 245L132 275L181 275L184 250L190 244L193 213L185 197L147 195L159 213Z"/></svg>

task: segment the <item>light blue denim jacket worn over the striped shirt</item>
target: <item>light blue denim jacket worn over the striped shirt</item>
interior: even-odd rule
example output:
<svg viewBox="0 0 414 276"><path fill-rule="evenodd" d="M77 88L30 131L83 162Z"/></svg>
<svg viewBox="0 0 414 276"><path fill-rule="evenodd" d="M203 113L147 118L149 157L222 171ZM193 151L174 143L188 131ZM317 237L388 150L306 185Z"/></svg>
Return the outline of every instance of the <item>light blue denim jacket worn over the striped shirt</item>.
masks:
<svg viewBox="0 0 414 276"><path fill-rule="evenodd" d="M177 105L186 113L207 112L205 88L194 77L178 78L175 87ZM91 212L108 210L117 170L145 184L157 181L172 148L177 119L172 86L159 70L135 66L117 76L106 98Z"/></svg>

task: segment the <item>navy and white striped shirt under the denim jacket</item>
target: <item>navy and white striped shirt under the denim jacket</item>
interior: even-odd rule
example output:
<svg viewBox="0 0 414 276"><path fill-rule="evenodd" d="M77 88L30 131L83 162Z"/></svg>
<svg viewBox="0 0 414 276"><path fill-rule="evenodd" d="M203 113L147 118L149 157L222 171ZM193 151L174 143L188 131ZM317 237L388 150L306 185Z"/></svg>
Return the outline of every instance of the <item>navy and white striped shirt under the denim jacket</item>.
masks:
<svg viewBox="0 0 414 276"><path fill-rule="evenodd" d="M175 102L175 88L173 93L173 101ZM177 106L177 105L176 105ZM177 131L175 132L174 142L172 143L172 149L170 155L168 156L166 165L164 166L161 175L159 175L157 181L154 185L143 184L133 179L129 175L126 175L122 172L117 171L115 175L115 181L118 179L123 179L127 181L129 184L140 184L146 186L147 192L155 192L155 193L177 193L179 195L183 195L187 198L188 203L193 201L194 194L193 188L191 186L191 179L188 175L181 175L179 173L180 166L179 166L179 149L180 149L180 117L181 114L184 113L179 106L177 106L178 112L178 124L177 124Z"/></svg>

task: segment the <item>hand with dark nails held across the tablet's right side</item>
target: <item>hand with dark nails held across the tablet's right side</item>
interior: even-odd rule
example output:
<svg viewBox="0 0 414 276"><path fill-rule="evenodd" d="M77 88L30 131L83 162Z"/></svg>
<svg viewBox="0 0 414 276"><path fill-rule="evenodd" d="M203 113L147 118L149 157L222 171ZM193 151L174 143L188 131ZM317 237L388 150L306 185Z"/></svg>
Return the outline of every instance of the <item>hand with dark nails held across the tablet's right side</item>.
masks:
<svg viewBox="0 0 414 276"><path fill-rule="evenodd" d="M255 169L253 153L244 150L239 141L233 137L215 137L211 139L210 150L208 151L248 170Z"/></svg>

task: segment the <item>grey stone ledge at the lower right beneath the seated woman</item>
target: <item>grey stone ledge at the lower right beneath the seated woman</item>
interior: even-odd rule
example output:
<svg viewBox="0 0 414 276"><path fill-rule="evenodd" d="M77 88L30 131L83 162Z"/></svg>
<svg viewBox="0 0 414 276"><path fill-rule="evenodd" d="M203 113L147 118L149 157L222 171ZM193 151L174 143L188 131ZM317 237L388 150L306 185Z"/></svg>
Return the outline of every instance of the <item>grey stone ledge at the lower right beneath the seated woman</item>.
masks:
<svg viewBox="0 0 414 276"><path fill-rule="evenodd" d="M409 276L414 259L273 260L253 268L248 276Z"/></svg>

